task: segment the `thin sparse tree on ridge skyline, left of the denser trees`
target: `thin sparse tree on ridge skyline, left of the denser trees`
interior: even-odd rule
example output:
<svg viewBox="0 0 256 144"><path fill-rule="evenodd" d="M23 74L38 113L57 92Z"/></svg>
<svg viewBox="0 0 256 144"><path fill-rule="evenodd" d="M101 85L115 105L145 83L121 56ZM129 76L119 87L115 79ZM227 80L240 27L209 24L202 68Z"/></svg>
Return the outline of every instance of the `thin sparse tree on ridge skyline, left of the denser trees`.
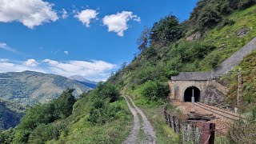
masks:
<svg viewBox="0 0 256 144"><path fill-rule="evenodd" d="M143 51L149 47L150 44L150 28L148 26L144 26L144 30L140 38L137 39L138 50Z"/></svg>

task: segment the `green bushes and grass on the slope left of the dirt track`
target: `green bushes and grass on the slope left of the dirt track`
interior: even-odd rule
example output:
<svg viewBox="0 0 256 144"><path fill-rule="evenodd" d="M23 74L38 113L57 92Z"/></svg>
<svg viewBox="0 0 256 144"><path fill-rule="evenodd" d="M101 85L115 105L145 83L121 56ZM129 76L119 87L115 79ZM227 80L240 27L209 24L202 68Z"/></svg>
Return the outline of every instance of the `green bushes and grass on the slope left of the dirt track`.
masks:
<svg viewBox="0 0 256 144"><path fill-rule="evenodd" d="M14 130L0 134L0 143L120 143L126 138L131 115L114 85L100 83L78 101L73 92L31 107Z"/></svg>

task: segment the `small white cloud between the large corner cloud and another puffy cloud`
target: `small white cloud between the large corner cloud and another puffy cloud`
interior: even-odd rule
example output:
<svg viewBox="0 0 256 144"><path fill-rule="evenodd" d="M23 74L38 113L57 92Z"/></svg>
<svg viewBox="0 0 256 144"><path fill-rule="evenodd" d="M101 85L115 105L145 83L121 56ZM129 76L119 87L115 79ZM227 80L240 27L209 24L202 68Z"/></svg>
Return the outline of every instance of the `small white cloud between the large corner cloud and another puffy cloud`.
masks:
<svg viewBox="0 0 256 144"><path fill-rule="evenodd" d="M96 10L86 9L78 12L74 17L78 18L80 22L86 27L90 27L90 21L97 18L98 12Z"/></svg>

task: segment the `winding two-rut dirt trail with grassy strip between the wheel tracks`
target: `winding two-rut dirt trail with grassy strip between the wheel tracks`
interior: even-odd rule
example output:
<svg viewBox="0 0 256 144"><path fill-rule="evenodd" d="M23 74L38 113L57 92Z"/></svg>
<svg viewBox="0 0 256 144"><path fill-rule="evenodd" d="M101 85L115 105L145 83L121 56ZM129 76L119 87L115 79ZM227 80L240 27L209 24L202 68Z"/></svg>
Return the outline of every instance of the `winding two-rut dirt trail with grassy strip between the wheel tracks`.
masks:
<svg viewBox="0 0 256 144"><path fill-rule="evenodd" d="M142 140L143 144L155 144L156 143L156 136L154 133L154 129L153 126L151 126L150 122L148 121L148 119L146 118L146 115L142 112L142 110L140 110L133 102L133 100L129 97L126 96L124 97L126 99L127 105L129 106L129 109L131 111L131 113L134 115L134 128L131 131L131 134L128 136L128 138L126 138L126 141L123 143L136 143L137 141L137 135L138 135L138 130L140 127L140 123L139 123L139 119L138 119L138 114L140 114L142 116L142 126L143 126L143 131L146 135L146 137ZM134 108L132 108L130 106L130 103L128 102L127 98L130 100L130 102L133 104Z"/></svg>

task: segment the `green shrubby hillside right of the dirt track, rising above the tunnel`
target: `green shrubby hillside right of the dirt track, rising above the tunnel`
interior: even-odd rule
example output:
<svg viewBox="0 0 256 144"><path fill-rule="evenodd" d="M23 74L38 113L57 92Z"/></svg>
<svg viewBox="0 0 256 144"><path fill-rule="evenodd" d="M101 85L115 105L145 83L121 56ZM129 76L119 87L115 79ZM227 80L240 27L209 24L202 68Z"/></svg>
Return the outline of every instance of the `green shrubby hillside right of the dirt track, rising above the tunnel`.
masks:
<svg viewBox="0 0 256 144"><path fill-rule="evenodd" d="M246 0L202 0L198 2L198 6L194 8L190 19L186 22L180 23L171 15L160 19L151 28L150 45L139 49L141 54L136 56L130 65L111 76L108 82L114 83L122 89L123 93L131 95L134 102L143 107L149 118L154 117L154 120L150 122L157 130L157 135L159 133L164 135L164 138L158 136L159 143L165 143L165 140L161 142L159 139L168 139L166 135L171 135L169 140L175 138L172 138L174 134L163 132L164 125L159 126L158 123L161 123L163 117L161 112L157 114L149 112L152 107L158 109L166 104L167 94L158 92L158 84L167 82L170 76L181 71L212 70L250 42L256 35L256 6L254 4L254 1ZM182 33L179 33L180 30ZM240 30L245 30L246 34L239 35ZM173 37L168 38L165 34ZM247 58L254 61L252 57ZM251 66L254 65L254 63L251 64ZM250 84L246 84L247 89L243 88L246 96L242 96L247 101L242 101L244 103L242 105L245 106L248 102L254 105L255 89L252 77L255 74L249 73L246 75L248 79L250 78L248 82ZM230 89L230 94L226 99L226 102L232 105L235 103L235 97L232 94L237 94L235 91L237 78L235 74L228 75L227 78L230 79L229 87L234 86ZM228 142L230 139L218 138L218 142L224 141Z"/></svg>

